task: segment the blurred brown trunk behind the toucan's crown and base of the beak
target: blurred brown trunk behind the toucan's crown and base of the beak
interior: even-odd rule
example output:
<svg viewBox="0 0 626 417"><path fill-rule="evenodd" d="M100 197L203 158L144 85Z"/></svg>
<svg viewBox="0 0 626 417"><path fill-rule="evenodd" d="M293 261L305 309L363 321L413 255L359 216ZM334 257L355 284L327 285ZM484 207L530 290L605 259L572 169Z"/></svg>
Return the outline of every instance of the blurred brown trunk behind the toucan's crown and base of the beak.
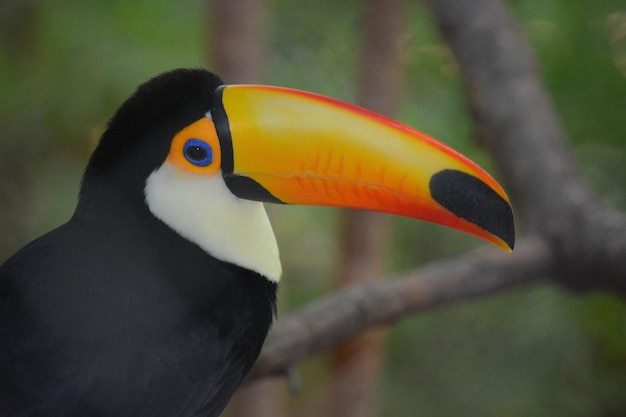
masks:
<svg viewBox="0 0 626 417"><path fill-rule="evenodd" d="M214 0L211 3L214 71L226 83L259 83L263 67L263 10L261 0ZM229 417L284 415L277 384L259 379L242 386L231 399Z"/></svg>

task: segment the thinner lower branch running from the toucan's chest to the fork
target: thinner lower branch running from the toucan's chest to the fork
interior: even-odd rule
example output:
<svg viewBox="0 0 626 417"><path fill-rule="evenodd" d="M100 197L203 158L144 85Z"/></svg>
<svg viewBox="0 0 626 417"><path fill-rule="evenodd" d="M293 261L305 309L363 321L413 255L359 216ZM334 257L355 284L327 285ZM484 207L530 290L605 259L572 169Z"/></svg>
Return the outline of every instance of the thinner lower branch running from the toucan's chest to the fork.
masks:
<svg viewBox="0 0 626 417"><path fill-rule="evenodd" d="M418 311L547 279L553 274L553 259L543 241L527 239L511 255L483 249L386 282L348 287L278 320L249 378L283 373L293 363L367 328Z"/></svg>

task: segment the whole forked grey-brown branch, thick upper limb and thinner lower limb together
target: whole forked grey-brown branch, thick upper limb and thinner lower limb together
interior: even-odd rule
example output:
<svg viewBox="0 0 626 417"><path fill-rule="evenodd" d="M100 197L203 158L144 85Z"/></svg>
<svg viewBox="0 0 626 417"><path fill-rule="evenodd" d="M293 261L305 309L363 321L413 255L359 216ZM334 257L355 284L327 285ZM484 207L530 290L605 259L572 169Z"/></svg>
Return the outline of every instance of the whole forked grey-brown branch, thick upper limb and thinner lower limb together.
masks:
<svg viewBox="0 0 626 417"><path fill-rule="evenodd" d="M626 218L588 188L537 64L501 0L430 0L458 60L481 139L533 236L512 255L494 250L354 286L281 318L251 377L284 372L369 327L524 283L626 295Z"/></svg>

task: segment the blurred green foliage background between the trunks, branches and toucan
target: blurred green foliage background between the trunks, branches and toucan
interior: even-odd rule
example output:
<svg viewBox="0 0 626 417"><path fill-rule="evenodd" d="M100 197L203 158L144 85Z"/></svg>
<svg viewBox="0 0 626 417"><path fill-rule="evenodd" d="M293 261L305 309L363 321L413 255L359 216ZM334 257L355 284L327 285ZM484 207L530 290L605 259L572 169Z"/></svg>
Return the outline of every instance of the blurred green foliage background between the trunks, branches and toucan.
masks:
<svg viewBox="0 0 626 417"><path fill-rule="evenodd" d="M510 4L586 178L626 208L626 4ZM265 5L262 81L353 101L362 2ZM408 11L397 118L493 171L472 140L458 71L428 9L417 3ZM107 119L138 84L176 67L211 68L212 19L211 3L199 0L0 3L0 262L68 219ZM285 267L281 308L288 310L331 288L338 216L269 210ZM482 245L416 221L389 221L390 273ZM620 298L521 288L422 313L388 334L373 415L626 416ZM305 361L304 391L292 407L323 384L324 364Z"/></svg>

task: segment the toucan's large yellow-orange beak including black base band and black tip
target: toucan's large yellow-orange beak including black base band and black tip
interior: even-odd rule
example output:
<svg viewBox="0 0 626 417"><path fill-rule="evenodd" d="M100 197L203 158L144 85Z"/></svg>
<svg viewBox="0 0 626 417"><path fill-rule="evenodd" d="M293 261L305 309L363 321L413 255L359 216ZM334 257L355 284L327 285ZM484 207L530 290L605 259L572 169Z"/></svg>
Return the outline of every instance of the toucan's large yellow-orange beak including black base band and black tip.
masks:
<svg viewBox="0 0 626 417"><path fill-rule="evenodd" d="M502 187L411 127L331 98L252 85L218 88L211 117L222 175L239 197L408 216L513 248Z"/></svg>

